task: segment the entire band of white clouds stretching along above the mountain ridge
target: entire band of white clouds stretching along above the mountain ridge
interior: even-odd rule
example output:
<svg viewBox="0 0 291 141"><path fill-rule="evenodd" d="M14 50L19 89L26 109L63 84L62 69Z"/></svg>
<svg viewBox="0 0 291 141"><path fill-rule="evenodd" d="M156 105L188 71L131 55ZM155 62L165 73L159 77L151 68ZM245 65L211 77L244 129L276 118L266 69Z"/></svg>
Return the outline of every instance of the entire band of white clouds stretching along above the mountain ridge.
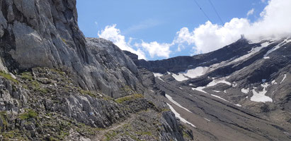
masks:
<svg viewBox="0 0 291 141"><path fill-rule="evenodd" d="M182 27L170 43L144 42L142 39L132 43L132 38L126 41L116 25L106 26L104 30L98 32L98 36L112 41L122 50L137 54L139 59L147 59L146 56L169 58L174 52L185 49L184 46L193 47L192 54L203 54L232 44L241 35L245 35L246 39L251 41L290 36L291 16L288 15L291 13L290 6L291 0L269 0L268 5L260 13L260 18L255 22L248 18L232 18L224 25L207 21L193 31L188 27ZM254 11L252 8L246 15L251 16ZM174 47L176 48L173 49Z"/></svg>

